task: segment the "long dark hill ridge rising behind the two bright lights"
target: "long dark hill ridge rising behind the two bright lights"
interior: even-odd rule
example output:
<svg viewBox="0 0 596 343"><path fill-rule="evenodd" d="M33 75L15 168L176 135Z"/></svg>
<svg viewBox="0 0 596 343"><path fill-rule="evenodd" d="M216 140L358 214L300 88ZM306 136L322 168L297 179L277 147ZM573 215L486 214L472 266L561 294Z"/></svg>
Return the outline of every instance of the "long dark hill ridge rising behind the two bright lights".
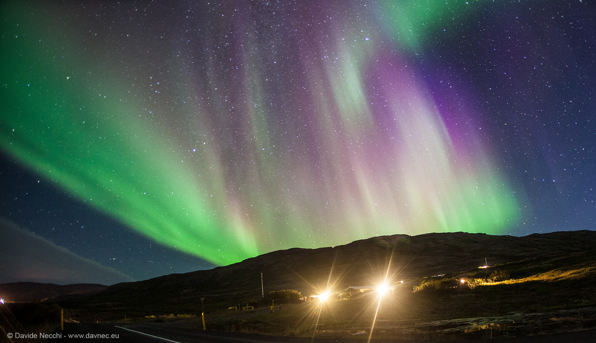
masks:
<svg viewBox="0 0 596 343"><path fill-rule="evenodd" d="M572 255L594 260L595 247L596 232L588 230L524 237L465 232L380 236L336 247L279 250L210 270L111 285L86 298L85 308L191 309L201 296L213 298L206 301L207 308L208 303L260 298L261 273L265 292L296 289L311 295L328 280L338 291L374 284L390 260L389 275L397 282L478 268L485 265L485 257L489 266ZM64 305L80 308L82 303Z"/></svg>

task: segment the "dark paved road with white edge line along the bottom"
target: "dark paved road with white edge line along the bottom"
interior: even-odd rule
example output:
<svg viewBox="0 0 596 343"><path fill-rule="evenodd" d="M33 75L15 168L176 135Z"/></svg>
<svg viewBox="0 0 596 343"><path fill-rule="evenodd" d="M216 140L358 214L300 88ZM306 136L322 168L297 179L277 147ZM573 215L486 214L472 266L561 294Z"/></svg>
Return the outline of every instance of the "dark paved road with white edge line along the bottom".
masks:
<svg viewBox="0 0 596 343"><path fill-rule="evenodd" d="M164 323L165 324L165 323ZM117 335L114 338L97 338L91 335ZM70 335L70 336L69 336ZM73 335L82 335L73 338ZM105 336L103 336L105 337ZM184 329L161 323L66 323L61 339L48 339L48 342L131 342L131 343L310 343L311 338L266 336L252 333L197 331ZM511 343L566 343L566 342L596 342L596 331L571 332L561 335L530 336L523 338L495 339ZM14 342L18 342L15 339ZM492 341L492 340L491 340ZM313 343L358 343L363 339L349 338L315 338ZM373 339L374 343L412 343L402 339ZM445 341L447 342L447 341ZM451 343L487 342L486 339L466 339L463 341L449 341Z"/></svg>

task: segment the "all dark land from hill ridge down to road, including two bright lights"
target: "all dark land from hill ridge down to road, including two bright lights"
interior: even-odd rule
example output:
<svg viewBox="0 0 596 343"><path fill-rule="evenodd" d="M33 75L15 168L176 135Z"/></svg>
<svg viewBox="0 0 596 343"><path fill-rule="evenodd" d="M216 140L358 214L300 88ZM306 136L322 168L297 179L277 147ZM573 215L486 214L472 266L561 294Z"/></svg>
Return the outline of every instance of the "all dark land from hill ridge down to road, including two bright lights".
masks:
<svg viewBox="0 0 596 343"><path fill-rule="evenodd" d="M382 296L374 289L346 291L350 285L383 283L391 291ZM331 297L284 304L269 295L280 289L304 296L329 291ZM36 317L38 327L48 327L40 318L55 313L50 303L38 305L45 306ZM254 310L239 310L238 304ZM26 305L7 306L23 313ZM116 284L53 306L80 325L111 322L188 332L202 331L198 319L204 308L207 329L232 336L359 339L374 328L374 339L564 338L596 328L596 232L374 237Z"/></svg>

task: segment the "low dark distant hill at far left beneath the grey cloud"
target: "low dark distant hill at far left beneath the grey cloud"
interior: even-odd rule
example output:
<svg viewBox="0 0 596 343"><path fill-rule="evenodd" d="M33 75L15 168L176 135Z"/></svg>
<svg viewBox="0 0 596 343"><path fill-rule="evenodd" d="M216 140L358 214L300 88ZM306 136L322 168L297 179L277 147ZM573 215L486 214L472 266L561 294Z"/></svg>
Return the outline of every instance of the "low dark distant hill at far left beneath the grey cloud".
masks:
<svg viewBox="0 0 596 343"><path fill-rule="evenodd" d="M73 298L74 296L91 295L108 288L100 284L56 285L39 282L11 282L0 284L0 298L15 303L36 300Z"/></svg>

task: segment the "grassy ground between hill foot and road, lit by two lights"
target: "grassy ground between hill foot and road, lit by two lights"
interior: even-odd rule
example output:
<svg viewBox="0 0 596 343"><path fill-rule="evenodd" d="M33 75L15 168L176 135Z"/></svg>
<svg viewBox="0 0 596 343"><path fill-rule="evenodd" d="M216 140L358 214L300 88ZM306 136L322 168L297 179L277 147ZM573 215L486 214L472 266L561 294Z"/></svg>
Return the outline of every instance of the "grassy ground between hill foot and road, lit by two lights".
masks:
<svg viewBox="0 0 596 343"><path fill-rule="evenodd" d="M418 291L412 292L415 286ZM324 303L314 300L282 304L281 310L277 308L271 313L265 300L226 294L207 297L204 309L208 330L368 338L356 333L370 332L376 314L378 329L373 332L373 338L436 339L449 338L451 333L438 332L426 324L409 333L395 328L433 321L596 307L595 289L596 253L588 249L423 278L417 285L398 285L393 294L383 297L380 306L377 294L366 292ZM126 315L128 322L180 321L185 327L202 329L201 302L197 297L163 296L151 301L139 297L138 301L129 301L125 295L73 303L71 310L65 311L65 317L87 322L119 322ZM238 303L249 303L255 309L229 309ZM68 304L63 307L69 308ZM483 323L470 325L465 335L483 337L490 329L495 335L510 330L505 324Z"/></svg>

